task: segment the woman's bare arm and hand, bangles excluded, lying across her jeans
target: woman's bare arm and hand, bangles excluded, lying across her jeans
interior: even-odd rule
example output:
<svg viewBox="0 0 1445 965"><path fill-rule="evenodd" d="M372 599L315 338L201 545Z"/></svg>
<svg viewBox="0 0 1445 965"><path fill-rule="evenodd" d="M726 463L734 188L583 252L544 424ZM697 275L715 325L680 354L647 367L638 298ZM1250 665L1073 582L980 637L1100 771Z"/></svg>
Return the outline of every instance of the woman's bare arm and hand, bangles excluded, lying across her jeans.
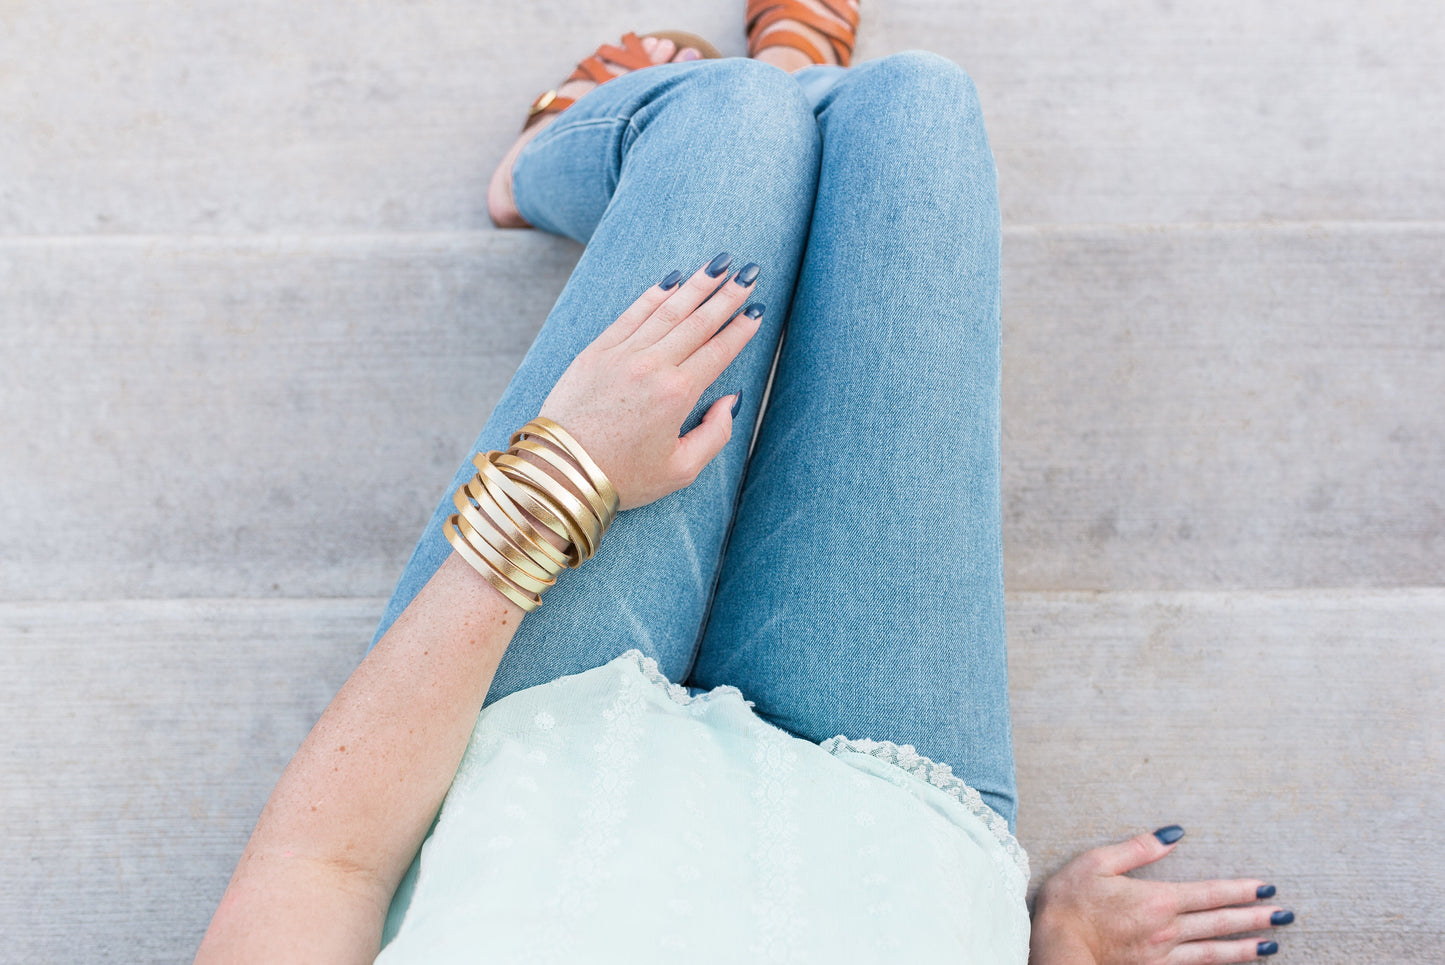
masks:
<svg viewBox="0 0 1445 965"><path fill-rule="evenodd" d="M759 328L749 315L728 324L750 286L724 282L712 295L717 287L696 272L672 290L649 289L542 404L540 415L601 465L624 510L691 484L731 438L733 396L678 438ZM460 556L447 559L286 766L198 962L376 958L387 906L451 787L520 618Z"/></svg>

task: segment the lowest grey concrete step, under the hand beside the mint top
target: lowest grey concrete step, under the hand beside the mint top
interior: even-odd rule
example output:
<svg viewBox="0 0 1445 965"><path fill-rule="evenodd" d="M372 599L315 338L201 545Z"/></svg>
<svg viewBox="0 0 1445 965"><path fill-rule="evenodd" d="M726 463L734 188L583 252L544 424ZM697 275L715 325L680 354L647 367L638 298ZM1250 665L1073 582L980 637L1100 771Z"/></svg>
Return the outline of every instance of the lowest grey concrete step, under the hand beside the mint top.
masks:
<svg viewBox="0 0 1445 965"><path fill-rule="evenodd" d="M3 962L188 961L381 600L0 604ZM1436 961L1445 591L1012 594L1020 836L1179 822L1292 961Z"/></svg>

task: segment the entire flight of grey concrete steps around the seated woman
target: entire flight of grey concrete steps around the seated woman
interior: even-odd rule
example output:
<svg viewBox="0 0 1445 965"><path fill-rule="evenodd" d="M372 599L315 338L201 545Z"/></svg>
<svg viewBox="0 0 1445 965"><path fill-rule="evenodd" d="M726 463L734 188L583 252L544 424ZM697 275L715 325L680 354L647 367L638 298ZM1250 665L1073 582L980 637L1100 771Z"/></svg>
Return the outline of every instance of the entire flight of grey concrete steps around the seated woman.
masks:
<svg viewBox="0 0 1445 965"><path fill-rule="evenodd" d="M487 224L522 107L740 7L0 4L0 962L189 958L577 256ZM1035 884L1178 821L1280 961L1439 961L1445 12L864 0L913 46L1000 168Z"/></svg>

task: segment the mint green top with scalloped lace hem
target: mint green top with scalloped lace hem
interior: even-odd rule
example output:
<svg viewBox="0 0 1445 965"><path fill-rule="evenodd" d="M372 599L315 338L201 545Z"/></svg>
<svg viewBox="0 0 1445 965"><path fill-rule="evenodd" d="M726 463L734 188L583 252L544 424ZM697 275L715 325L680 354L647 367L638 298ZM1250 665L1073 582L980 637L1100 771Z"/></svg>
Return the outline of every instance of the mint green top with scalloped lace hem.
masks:
<svg viewBox="0 0 1445 965"><path fill-rule="evenodd" d="M1027 860L946 764L629 650L481 712L381 965L1025 965Z"/></svg>

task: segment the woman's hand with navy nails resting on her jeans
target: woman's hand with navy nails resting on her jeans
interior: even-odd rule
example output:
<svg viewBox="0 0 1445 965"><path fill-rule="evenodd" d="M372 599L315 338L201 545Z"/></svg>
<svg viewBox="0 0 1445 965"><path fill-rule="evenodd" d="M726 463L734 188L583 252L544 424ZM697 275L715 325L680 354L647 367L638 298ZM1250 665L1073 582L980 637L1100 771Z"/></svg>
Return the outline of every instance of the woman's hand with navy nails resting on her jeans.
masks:
<svg viewBox="0 0 1445 965"><path fill-rule="evenodd" d="M572 433L617 487L621 509L646 506L698 477L733 438L733 403L712 403L678 438L704 390L757 332L763 306L743 305L757 267L747 266L708 298L727 272L720 254L682 285L647 289L568 365L539 415ZM676 273L675 273L676 274ZM670 279L672 276L669 276ZM738 285L738 277L746 285ZM707 302L704 303L704 299Z"/></svg>

